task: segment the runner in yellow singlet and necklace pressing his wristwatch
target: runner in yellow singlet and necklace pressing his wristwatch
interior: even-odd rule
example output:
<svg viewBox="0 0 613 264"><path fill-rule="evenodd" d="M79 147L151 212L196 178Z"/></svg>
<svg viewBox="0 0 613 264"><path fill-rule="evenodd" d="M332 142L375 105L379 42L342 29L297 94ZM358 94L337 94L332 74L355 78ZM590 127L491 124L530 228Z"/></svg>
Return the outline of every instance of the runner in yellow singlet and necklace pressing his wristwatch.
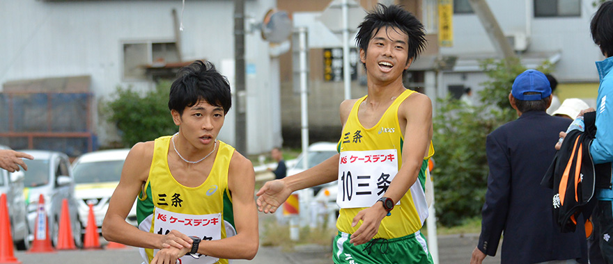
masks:
<svg viewBox="0 0 613 264"><path fill-rule="evenodd" d="M211 63L196 61L178 73L168 105L178 133L132 147L102 235L140 247L144 263L254 258L254 167L217 140L231 107L228 81ZM125 222L137 197L138 228Z"/></svg>

